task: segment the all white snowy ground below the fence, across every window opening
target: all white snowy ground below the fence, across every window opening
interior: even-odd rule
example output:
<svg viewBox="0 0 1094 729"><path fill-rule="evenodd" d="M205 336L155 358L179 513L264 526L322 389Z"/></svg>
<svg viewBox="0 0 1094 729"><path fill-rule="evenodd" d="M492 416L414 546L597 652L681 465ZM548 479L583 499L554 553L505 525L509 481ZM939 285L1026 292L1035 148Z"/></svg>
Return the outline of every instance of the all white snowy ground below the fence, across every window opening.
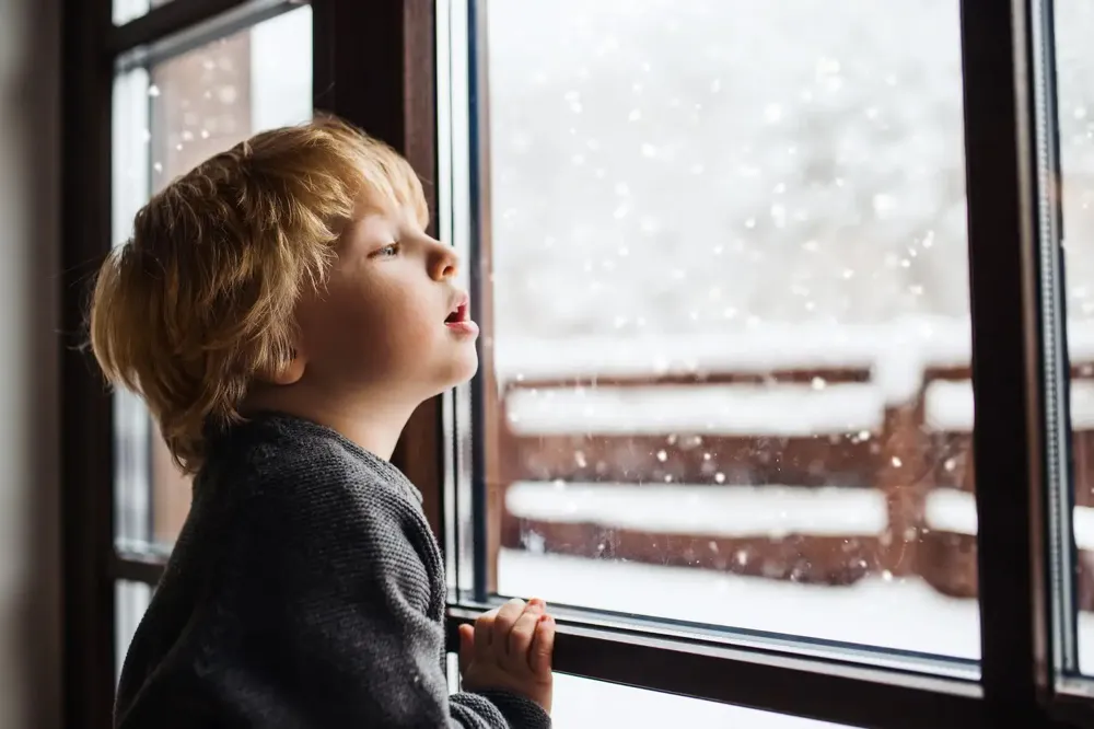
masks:
<svg viewBox="0 0 1094 729"><path fill-rule="evenodd" d="M694 568L601 562L503 549L499 592L583 608L736 626L882 648L979 658L975 600L939 594L919 579L866 579L849 587L798 585ZM1094 615L1080 615L1083 666L1094 658ZM556 724L602 729L826 725L559 676Z"/></svg>

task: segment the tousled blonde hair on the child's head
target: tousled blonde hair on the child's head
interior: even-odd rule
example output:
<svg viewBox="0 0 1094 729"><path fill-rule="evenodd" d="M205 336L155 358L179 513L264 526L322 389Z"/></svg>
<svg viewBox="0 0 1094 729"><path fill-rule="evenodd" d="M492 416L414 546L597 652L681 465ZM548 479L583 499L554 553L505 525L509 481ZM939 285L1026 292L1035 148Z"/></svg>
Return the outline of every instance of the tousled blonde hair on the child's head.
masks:
<svg viewBox="0 0 1094 729"><path fill-rule="evenodd" d="M291 359L293 312L358 204L428 208L410 165L333 117L256 135L167 185L98 271L91 347L141 395L187 473L207 427L242 419L255 375Z"/></svg>

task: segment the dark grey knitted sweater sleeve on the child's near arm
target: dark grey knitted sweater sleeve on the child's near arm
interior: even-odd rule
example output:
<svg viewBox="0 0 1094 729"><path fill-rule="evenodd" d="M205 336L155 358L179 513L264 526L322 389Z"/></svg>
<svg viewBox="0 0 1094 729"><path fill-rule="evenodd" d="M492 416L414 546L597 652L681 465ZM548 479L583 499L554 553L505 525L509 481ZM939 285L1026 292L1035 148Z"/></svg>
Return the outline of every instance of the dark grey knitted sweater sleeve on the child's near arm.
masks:
<svg viewBox="0 0 1094 729"><path fill-rule="evenodd" d="M439 552L415 505L386 485L295 494L242 509L212 591L198 673L229 726L549 729L522 696L450 696Z"/></svg>

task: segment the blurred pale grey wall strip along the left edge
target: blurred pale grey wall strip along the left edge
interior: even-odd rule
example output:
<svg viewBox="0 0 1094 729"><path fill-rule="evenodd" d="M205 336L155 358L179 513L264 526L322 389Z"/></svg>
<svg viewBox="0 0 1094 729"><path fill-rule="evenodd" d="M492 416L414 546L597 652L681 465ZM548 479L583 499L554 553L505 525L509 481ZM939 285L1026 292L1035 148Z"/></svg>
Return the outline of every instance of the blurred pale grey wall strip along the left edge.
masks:
<svg viewBox="0 0 1094 729"><path fill-rule="evenodd" d="M0 729L60 718L59 0L0 0Z"/></svg>

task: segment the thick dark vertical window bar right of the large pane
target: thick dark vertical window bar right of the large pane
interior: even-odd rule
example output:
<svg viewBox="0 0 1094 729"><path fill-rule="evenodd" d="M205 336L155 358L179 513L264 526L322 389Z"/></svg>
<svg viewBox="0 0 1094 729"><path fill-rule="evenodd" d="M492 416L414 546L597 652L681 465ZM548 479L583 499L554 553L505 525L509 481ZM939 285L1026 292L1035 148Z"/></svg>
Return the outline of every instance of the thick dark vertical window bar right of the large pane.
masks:
<svg viewBox="0 0 1094 729"><path fill-rule="evenodd" d="M982 683L991 720L1033 727L1050 658L1031 2L961 12Z"/></svg>

